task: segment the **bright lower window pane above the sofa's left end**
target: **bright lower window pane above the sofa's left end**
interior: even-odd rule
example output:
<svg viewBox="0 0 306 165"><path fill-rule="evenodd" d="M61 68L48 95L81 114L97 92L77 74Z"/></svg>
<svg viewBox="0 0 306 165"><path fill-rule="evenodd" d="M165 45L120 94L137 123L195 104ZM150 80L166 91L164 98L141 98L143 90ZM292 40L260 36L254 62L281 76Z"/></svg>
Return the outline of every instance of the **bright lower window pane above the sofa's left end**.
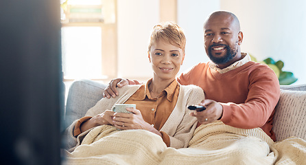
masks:
<svg viewBox="0 0 306 165"><path fill-rule="evenodd" d="M62 63L65 78L102 75L101 28L62 28Z"/></svg>

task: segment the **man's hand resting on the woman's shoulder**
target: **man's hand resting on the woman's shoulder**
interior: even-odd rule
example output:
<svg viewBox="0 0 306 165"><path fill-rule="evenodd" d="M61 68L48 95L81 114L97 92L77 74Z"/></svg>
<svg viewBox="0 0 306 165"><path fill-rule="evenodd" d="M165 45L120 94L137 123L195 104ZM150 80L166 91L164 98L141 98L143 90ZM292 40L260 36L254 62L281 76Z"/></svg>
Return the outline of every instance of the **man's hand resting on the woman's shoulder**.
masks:
<svg viewBox="0 0 306 165"><path fill-rule="evenodd" d="M127 79L124 78L113 79L110 81L110 83L108 83L107 87L104 89L103 96L106 98L110 98L110 96L115 98L116 96L118 96L118 91L116 87L123 87L125 85L128 85Z"/></svg>

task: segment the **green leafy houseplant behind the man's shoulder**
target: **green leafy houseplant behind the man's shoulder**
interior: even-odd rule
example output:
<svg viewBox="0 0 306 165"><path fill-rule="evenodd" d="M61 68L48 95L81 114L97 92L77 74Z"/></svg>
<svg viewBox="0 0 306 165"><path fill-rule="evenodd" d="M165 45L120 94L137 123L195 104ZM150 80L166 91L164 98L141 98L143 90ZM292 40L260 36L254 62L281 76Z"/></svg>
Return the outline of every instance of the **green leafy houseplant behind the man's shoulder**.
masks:
<svg viewBox="0 0 306 165"><path fill-rule="evenodd" d="M263 63L268 65L275 72L276 76L279 78L279 85L291 85L296 82L298 78L294 77L292 72L283 71L284 63L283 61L274 61L273 58L266 58L263 61L257 61L257 59L250 54L252 61L257 63Z"/></svg>

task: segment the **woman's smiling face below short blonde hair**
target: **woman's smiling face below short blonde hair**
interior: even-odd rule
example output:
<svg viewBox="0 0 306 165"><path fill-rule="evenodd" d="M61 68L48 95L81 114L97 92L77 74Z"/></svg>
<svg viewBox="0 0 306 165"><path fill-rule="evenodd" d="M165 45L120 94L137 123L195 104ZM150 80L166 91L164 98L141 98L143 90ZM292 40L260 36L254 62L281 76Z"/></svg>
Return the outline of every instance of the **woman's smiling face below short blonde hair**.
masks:
<svg viewBox="0 0 306 165"><path fill-rule="evenodd" d="M161 78L161 80L174 80L185 57L180 47L163 40L152 45L148 54L150 63L152 63L154 78Z"/></svg>

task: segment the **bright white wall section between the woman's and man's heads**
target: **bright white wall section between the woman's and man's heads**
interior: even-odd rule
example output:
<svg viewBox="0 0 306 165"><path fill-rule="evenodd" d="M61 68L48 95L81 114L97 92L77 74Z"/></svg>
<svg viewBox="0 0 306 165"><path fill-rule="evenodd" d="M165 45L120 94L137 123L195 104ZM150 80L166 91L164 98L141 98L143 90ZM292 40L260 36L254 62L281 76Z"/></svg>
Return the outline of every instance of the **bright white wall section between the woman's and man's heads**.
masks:
<svg viewBox="0 0 306 165"><path fill-rule="evenodd" d="M178 25L184 29L187 39L185 61L178 74L200 62L209 61L204 49L203 25L208 15L219 8L219 1L178 0Z"/></svg>

